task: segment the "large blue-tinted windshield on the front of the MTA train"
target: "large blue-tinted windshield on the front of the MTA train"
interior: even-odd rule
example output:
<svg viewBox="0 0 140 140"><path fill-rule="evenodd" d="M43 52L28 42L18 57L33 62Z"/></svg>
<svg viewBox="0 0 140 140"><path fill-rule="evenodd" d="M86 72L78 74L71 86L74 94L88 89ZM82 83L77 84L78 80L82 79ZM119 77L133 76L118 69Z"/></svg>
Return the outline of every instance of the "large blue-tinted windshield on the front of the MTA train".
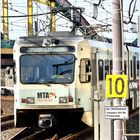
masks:
<svg viewBox="0 0 140 140"><path fill-rule="evenodd" d="M74 80L75 57L72 54L30 54L20 58L23 84L65 84Z"/></svg>

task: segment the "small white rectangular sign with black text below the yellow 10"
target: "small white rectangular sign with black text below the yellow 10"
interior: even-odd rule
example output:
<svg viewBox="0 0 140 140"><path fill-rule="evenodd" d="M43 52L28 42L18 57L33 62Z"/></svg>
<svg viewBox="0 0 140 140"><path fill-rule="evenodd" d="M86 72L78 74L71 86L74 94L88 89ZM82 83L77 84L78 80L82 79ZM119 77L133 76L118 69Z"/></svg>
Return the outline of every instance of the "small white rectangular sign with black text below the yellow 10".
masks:
<svg viewBox="0 0 140 140"><path fill-rule="evenodd" d="M129 109L127 106L106 106L105 116L106 119L127 120L129 118Z"/></svg>

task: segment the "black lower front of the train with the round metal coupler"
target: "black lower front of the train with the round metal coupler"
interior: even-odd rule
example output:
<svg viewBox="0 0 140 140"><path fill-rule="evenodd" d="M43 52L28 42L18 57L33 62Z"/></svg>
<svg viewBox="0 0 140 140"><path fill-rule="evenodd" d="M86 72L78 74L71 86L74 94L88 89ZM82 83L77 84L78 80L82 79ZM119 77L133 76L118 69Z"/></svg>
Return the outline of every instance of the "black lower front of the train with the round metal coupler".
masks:
<svg viewBox="0 0 140 140"><path fill-rule="evenodd" d="M83 108L78 109L20 109L16 114L16 127L62 128L81 122Z"/></svg>

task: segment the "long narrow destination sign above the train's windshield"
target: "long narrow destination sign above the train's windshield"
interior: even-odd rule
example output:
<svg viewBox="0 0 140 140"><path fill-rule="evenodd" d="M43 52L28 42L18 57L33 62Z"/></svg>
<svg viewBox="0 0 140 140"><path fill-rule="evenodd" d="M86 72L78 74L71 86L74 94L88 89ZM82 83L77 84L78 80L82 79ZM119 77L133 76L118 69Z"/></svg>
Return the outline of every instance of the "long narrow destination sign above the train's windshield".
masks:
<svg viewBox="0 0 140 140"><path fill-rule="evenodd" d="M21 53L74 52L73 46L22 47Z"/></svg>

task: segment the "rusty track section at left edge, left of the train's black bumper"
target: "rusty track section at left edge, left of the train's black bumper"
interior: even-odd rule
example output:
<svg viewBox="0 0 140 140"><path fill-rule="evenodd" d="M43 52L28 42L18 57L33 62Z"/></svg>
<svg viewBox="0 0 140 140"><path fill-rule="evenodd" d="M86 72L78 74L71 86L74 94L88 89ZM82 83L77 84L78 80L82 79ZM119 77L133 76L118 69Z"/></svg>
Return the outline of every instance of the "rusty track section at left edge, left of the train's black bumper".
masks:
<svg viewBox="0 0 140 140"><path fill-rule="evenodd" d="M14 127L14 115L1 117L1 131Z"/></svg>

